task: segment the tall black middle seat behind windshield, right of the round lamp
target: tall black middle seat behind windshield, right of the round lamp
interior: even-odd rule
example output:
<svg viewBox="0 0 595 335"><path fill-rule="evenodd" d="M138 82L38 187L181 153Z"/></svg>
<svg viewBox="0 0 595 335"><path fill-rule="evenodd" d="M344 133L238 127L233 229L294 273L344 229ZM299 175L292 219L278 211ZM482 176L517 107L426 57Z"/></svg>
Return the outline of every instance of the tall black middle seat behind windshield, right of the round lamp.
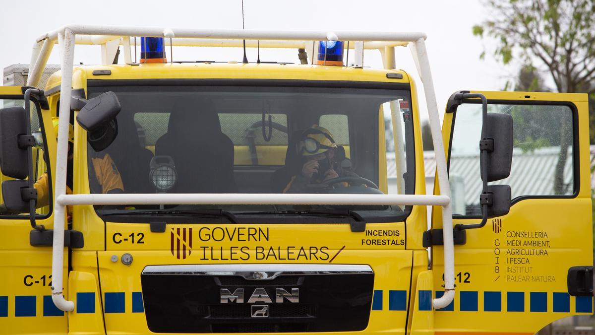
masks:
<svg viewBox="0 0 595 335"><path fill-rule="evenodd" d="M155 155L170 156L176 165L170 193L235 193L233 142L221 132L215 107L205 101L177 107L155 143Z"/></svg>

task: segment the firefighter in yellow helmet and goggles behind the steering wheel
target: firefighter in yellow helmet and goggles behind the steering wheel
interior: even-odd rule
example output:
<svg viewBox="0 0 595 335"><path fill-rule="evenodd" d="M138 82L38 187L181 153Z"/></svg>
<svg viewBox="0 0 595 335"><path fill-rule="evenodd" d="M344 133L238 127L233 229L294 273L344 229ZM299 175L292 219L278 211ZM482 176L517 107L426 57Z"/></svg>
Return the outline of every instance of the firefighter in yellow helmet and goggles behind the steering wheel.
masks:
<svg viewBox="0 0 595 335"><path fill-rule="evenodd" d="M333 134L321 126L312 125L302 133L297 154L302 157L302 169L292 176L283 193L307 193L308 184L321 184L334 178L358 177L340 168ZM347 186L346 183L341 184Z"/></svg>

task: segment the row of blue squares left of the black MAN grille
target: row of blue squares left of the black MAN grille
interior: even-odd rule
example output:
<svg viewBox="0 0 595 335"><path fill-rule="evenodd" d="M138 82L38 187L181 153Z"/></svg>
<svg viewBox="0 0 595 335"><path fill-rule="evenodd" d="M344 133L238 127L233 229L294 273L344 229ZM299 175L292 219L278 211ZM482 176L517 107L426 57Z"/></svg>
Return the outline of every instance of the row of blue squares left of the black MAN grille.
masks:
<svg viewBox="0 0 595 335"><path fill-rule="evenodd" d="M124 292L106 292L104 295L106 313L124 313L126 306L126 296ZM129 295L132 301L133 313L144 313L143 295L141 292L132 292ZM37 314L37 299L42 300L42 311ZM15 317L63 317L64 312L60 311L54 305L52 296L14 296L14 300L8 296L0 296L0 318L8 317L8 305L14 303ZM76 312L79 314L95 313L95 292L77 292L76 293ZM11 315L12 316L12 315Z"/></svg>

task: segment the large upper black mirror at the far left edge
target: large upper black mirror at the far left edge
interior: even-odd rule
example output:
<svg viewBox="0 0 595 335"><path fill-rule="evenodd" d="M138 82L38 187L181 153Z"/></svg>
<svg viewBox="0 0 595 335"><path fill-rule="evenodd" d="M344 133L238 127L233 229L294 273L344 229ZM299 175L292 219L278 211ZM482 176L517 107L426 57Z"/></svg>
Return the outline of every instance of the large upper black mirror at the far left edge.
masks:
<svg viewBox="0 0 595 335"><path fill-rule="evenodd" d="M19 145L20 135L27 135L27 113L23 107L0 109L0 169L11 178L29 175L27 148Z"/></svg>

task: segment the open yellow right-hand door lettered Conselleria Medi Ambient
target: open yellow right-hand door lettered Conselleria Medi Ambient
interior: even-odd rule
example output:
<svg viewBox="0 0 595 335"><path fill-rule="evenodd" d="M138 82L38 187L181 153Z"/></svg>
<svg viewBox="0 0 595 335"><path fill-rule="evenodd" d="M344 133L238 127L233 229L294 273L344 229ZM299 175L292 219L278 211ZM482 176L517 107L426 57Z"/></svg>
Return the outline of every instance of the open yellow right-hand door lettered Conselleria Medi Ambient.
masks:
<svg viewBox="0 0 595 335"><path fill-rule="evenodd" d="M436 331L533 334L554 320L592 314L587 95L472 93L485 95L488 113L512 116L511 173L490 183L511 186L512 206L483 228L466 229L464 244L455 245L455 299L434 314ZM480 99L449 101L442 135L455 226L481 221L481 126ZM442 228L438 207L432 223ZM432 254L434 282L443 283L443 247Z"/></svg>

